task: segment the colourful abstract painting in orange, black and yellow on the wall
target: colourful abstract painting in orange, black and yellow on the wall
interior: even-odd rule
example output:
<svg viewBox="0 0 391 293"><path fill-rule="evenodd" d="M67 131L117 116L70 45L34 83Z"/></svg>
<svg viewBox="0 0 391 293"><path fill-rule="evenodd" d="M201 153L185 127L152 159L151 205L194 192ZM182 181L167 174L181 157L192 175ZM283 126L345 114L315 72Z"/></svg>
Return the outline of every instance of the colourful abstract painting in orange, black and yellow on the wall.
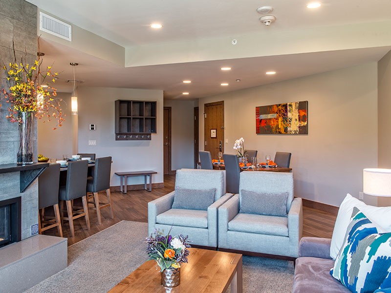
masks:
<svg viewBox="0 0 391 293"><path fill-rule="evenodd" d="M308 101L255 108L257 134L308 134Z"/></svg>

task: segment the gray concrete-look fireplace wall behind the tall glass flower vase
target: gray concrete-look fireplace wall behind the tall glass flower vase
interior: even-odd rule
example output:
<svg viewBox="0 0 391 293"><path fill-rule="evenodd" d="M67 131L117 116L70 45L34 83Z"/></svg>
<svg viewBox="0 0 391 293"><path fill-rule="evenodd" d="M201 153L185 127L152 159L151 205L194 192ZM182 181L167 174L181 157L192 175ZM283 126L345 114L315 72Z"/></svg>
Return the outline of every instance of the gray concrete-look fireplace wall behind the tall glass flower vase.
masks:
<svg viewBox="0 0 391 293"><path fill-rule="evenodd" d="M37 56L37 7L23 0L0 0L0 63L12 61L12 41L20 57L27 52L26 60L32 63ZM1 68L0 88L6 87ZM1 97L3 95L1 94ZM0 107L0 164L16 163L19 146L18 125L9 122L7 104ZM37 122L34 120L34 159L37 157ZM31 236L31 225L38 222L38 184L33 183L24 193L19 193L19 172L0 174L0 200L22 196L22 239Z"/></svg>

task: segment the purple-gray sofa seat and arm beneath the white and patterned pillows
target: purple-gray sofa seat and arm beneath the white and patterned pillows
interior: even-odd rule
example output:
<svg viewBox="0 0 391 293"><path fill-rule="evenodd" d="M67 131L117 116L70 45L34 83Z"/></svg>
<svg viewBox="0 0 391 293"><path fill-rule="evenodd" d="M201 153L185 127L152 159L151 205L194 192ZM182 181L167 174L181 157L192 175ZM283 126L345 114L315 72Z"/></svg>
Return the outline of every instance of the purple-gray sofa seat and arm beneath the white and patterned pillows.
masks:
<svg viewBox="0 0 391 293"><path fill-rule="evenodd" d="M334 260L330 258L331 239L303 237L296 259L292 293L349 293L330 275Z"/></svg>

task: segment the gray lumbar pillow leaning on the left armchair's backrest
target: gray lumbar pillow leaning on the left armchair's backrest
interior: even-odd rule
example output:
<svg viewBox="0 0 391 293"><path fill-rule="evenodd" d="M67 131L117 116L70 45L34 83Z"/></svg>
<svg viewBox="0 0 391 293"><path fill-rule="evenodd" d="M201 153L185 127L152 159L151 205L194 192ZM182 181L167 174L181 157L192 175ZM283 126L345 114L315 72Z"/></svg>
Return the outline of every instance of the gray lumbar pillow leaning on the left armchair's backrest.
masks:
<svg viewBox="0 0 391 293"><path fill-rule="evenodd" d="M175 188L173 209L207 210L215 201L216 188L187 189Z"/></svg>

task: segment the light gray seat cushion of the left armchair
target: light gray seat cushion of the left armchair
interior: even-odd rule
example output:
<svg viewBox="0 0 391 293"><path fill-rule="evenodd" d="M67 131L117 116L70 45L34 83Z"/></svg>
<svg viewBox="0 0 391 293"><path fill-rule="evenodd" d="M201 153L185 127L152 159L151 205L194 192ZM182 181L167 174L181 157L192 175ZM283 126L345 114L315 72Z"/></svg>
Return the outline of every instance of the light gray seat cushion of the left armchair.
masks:
<svg viewBox="0 0 391 293"><path fill-rule="evenodd" d="M208 212L195 209L169 209L156 216L156 223L183 227L208 228Z"/></svg>

